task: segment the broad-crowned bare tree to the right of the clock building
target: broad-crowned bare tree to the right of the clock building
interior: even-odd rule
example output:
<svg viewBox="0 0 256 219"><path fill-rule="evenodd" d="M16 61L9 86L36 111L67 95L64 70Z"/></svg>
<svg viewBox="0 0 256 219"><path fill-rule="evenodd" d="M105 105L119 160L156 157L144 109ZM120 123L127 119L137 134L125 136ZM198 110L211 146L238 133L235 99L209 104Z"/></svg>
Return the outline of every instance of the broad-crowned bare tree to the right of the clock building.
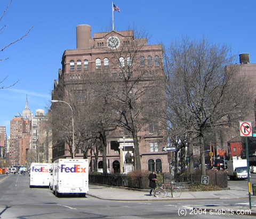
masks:
<svg viewBox="0 0 256 219"><path fill-rule="evenodd" d="M237 76L236 66L226 68L233 63L226 45L185 38L172 43L166 52L169 128L173 135L198 139L204 175L205 133L237 123L245 108L253 109L251 91L245 79Z"/></svg>

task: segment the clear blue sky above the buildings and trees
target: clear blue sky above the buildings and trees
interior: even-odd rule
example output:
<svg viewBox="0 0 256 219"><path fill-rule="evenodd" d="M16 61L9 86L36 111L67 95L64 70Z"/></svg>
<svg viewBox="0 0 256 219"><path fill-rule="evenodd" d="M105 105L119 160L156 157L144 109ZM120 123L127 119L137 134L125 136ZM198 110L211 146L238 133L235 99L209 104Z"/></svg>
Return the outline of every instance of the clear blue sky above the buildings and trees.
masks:
<svg viewBox="0 0 256 219"><path fill-rule="evenodd" d="M0 14L9 0L0 1ZM121 12L114 12L115 30L129 26L145 30L149 43L169 45L182 36L207 38L227 44L234 54L250 53L256 63L256 1L248 0L115 0ZM76 48L76 26L90 25L92 35L111 27L111 1L98 0L13 0L0 27L0 47L26 34L19 42L0 52L0 86L19 82L0 90L0 126L10 135L10 120L22 113L28 95L29 109L50 106L54 79L58 79L61 56ZM1 49L0 48L0 49ZM237 56L237 62L239 58Z"/></svg>

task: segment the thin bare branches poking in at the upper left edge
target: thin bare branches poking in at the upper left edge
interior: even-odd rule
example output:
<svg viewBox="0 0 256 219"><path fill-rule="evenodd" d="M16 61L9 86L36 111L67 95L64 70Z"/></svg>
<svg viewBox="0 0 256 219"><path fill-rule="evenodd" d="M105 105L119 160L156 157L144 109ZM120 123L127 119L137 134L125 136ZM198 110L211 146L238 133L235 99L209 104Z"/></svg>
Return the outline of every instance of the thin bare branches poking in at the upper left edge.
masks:
<svg viewBox="0 0 256 219"><path fill-rule="evenodd" d="M1 18L0 18L0 22L3 20L3 17L4 17L4 15L5 15L7 9L8 9L9 6L11 5L11 3L12 3L12 0L10 0L9 4L5 7L5 10L4 10L4 12L2 13L2 16L1 16ZM6 27L6 25L0 27L0 35L4 33L4 28L5 28L5 27ZM30 32L30 30L31 30L32 28L33 28L33 27L31 27L31 28L27 31L27 33L26 33L25 35L21 36L19 39L16 39L16 40L14 40L13 42L11 42L11 43L9 43L9 44L3 46L2 48L0 48L0 52L3 52L7 47L13 45L14 43L17 43L18 41L20 41L21 39L23 39L24 37L26 37L26 36L29 34L29 32ZM9 59L9 58L0 59L0 61L4 61L4 60L7 60L7 59ZM7 77L8 77L8 76L5 76L5 77L0 81L0 89L5 89L5 88L12 87L12 86L14 86L15 84L17 84L17 83L19 82L19 80L18 80L17 82L13 83L12 85L8 85L8 86L1 85L1 84L3 84L3 83L5 82L5 80L6 80Z"/></svg>

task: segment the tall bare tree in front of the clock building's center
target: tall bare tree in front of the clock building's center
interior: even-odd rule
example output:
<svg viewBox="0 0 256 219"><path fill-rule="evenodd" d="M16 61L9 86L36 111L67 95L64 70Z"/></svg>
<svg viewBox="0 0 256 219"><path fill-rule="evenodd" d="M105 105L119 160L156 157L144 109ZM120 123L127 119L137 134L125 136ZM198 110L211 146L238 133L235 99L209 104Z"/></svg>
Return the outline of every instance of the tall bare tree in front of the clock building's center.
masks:
<svg viewBox="0 0 256 219"><path fill-rule="evenodd" d="M163 75L160 64L152 67L146 63L143 51L150 50L145 33L129 31L126 42L118 48L108 50L110 71L104 71L103 80L99 81L101 95L111 102L116 112L115 122L119 128L125 129L133 138L134 167L141 170L140 147L138 133L148 123L149 95L157 87L158 79ZM143 36L143 38L142 38ZM155 53L156 54L156 53ZM161 62L162 46L158 46L157 54ZM152 60L150 60L152 62ZM145 68L146 65L146 68ZM153 115L151 115L152 117Z"/></svg>

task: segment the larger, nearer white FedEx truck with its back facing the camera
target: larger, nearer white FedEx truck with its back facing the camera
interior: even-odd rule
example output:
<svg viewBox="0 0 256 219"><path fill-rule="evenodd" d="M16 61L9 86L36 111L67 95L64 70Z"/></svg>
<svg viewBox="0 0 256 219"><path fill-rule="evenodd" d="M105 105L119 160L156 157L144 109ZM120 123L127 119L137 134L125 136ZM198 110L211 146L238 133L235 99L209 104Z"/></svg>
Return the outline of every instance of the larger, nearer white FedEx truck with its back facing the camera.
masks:
<svg viewBox="0 0 256 219"><path fill-rule="evenodd" d="M78 193L79 196L85 197L89 191L89 160L55 160L52 190L57 197L63 193Z"/></svg>

